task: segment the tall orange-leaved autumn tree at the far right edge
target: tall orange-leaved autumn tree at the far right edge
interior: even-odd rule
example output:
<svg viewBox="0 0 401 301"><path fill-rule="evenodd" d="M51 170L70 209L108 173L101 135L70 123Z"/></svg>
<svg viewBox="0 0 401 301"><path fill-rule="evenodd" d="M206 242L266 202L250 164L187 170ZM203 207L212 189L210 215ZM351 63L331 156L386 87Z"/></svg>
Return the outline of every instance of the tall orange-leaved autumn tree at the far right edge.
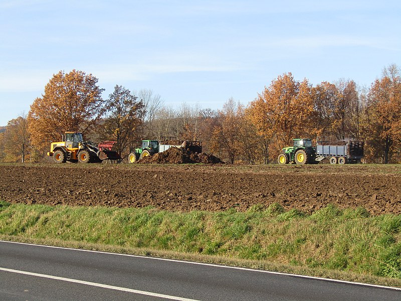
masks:
<svg viewBox="0 0 401 301"><path fill-rule="evenodd" d="M382 163L387 164L393 147L401 145L401 77L396 65L385 68L382 77L372 83L367 102L367 149L371 157L380 156Z"/></svg>

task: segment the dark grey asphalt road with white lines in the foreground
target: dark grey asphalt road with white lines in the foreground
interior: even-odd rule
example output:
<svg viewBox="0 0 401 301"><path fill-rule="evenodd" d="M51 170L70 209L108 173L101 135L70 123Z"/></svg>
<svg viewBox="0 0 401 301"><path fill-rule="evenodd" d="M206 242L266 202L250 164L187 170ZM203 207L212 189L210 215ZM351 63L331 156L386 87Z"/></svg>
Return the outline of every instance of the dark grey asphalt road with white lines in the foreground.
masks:
<svg viewBox="0 0 401 301"><path fill-rule="evenodd" d="M401 300L401 290L0 241L1 300Z"/></svg>

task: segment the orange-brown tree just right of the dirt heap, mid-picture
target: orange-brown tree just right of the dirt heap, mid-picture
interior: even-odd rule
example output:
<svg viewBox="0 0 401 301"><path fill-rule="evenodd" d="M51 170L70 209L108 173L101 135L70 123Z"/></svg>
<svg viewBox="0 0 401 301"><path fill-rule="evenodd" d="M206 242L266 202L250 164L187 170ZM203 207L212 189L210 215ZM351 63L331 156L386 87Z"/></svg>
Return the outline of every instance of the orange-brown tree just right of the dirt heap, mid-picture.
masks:
<svg viewBox="0 0 401 301"><path fill-rule="evenodd" d="M230 98L223 109L218 111L219 123L214 128L211 140L211 150L213 153L219 151L228 157L231 164L241 154L240 126L242 105Z"/></svg>

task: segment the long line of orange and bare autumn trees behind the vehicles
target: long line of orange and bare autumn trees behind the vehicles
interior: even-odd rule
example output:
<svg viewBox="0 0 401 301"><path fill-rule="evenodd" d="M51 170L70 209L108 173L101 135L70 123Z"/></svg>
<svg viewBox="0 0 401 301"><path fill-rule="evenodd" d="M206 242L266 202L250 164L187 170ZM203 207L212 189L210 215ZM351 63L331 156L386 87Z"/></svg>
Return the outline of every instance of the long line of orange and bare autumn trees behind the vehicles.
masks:
<svg viewBox="0 0 401 301"><path fill-rule="evenodd" d="M82 131L93 141L114 140L126 158L142 139L163 136L201 140L204 150L226 162L276 162L293 138L332 136L365 142L366 163L401 162L401 72L383 69L369 88L340 79L316 86L279 75L244 105L233 98L221 109L182 103L164 105L152 90L116 85L107 99L92 74L72 70L54 74L28 114L0 132L0 161L45 160L50 141L65 131Z"/></svg>

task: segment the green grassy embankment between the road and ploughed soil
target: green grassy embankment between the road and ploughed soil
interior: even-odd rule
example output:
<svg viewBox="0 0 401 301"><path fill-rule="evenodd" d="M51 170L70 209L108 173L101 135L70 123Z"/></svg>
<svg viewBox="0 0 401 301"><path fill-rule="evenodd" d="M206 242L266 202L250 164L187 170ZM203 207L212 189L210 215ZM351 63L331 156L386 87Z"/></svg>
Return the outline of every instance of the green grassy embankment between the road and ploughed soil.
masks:
<svg viewBox="0 0 401 301"><path fill-rule="evenodd" d="M401 286L401 215L334 206L306 216L9 204L0 239L173 257Z"/></svg>

